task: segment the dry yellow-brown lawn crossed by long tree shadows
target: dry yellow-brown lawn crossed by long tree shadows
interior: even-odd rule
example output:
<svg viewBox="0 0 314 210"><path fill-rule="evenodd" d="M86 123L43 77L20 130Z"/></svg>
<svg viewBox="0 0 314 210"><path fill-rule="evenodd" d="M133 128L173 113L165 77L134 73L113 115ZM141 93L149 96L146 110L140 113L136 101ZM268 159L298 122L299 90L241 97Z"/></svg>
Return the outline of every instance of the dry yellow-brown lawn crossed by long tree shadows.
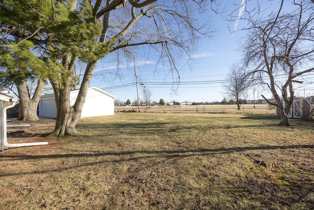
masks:
<svg viewBox="0 0 314 210"><path fill-rule="evenodd" d="M116 113L80 137L0 154L0 209L311 210L314 123L266 114ZM9 142L43 141L53 126ZM247 156L274 158L267 169Z"/></svg>

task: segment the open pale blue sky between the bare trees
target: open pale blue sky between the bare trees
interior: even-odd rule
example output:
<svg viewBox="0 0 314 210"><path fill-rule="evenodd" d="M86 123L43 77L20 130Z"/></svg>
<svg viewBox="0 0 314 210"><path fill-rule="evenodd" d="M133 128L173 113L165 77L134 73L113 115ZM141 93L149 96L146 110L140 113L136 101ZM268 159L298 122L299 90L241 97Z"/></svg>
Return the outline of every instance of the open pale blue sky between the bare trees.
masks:
<svg viewBox="0 0 314 210"><path fill-rule="evenodd" d="M245 5L245 0L234 1L241 5L235 11L238 17L240 17L245 7L250 5ZM253 2L255 1L248 1L248 4ZM266 3L267 7L271 5L270 8L278 8L278 0L262 2ZM232 11L235 8L230 7L229 9ZM225 16L226 13L223 15ZM151 100L157 102L161 98L165 102L174 100L178 102L214 102L223 100L225 90L222 83L228 75L229 68L241 60L239 40L240 37L245 35L241 31L231 33L229 29L233 31L241 29L246 22L243 20L228 22L220 14L214 14L212 11L199 18L211 19L213 27L217 31L213 33L211 40L203 41L199 45L197 52L192 55L195 63L193 63L191 69L179 65L178 69L181 78L179 86L172 84L173 78L168 74L169 72L161 68L157 69L157 72L154 71L156 58L152 57L150 60L144 60L140 54L134 55L140 100L143 100L142 92L144 88L151 90ZM143 53L147 54L144 51ZM120 101L125 102L130 99L131 102L134 102L137 98L134 63L130 62L128 64L123 62L117 73L116 61L113 61L114 57L115 55L107 56L99 62L90 87L95 86L105 90L116 96ZM178 63L185 63L185 60L181 60ZM104 72L106 73L104 74ZM176 91L173 89L176 89ZM307 91L314 92L311 89ZM302 94L303 92L305 94L305 88L301 91ZM249 90L246 99L261 99L261 94L267 98L272 98L269 90L259 89L255 91Z"/></svg>

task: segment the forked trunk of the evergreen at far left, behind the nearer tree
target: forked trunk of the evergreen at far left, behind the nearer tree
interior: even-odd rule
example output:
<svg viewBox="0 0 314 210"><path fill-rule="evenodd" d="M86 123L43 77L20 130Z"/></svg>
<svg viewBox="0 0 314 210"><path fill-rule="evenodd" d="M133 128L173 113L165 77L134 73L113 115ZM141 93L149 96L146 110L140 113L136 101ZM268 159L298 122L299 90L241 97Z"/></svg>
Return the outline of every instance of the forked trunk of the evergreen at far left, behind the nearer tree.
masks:
<svg viewBox="0 0 314 210"><path fill-rule="evenodd" d="M33 97L30 98L27 88L27 82L24 81L17 84L17 89L19 93L19 117L17 120L20 121L36 121L39 120L37 116L37 108L40 99L40 95L44 90L45 82L41 79L38 80L36 90Z"/></svg>

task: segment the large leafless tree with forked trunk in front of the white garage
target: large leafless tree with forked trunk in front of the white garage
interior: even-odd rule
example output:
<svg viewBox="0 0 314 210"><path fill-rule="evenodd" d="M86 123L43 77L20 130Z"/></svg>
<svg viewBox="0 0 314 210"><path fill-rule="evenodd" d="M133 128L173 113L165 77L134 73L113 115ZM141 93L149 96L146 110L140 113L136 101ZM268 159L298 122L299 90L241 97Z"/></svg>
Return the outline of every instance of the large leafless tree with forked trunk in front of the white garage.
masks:
<svg viewBox="0 0 314 210"><path fill-rule="evenodd" d="M197 8L205 7L206 1L202 0L96 0L84 3L84 8L92 9L96 24L102 20L102 33L97 39L90 40L96 43L95 50L88 51L90 57L73 106L70 105L69 91L76 54L65 54L61 59L62 77L50 78L57 104L52 136L78 135L75 126L92 75L98 61L109 53L119 54L125 48L148 45L160 55L158 64L166 65L174 77L180 79L175 60L182 59L184 54L190 57L200 35L207 37L212 31L208 30L210 25L193 17L200 11Z"/></svg>

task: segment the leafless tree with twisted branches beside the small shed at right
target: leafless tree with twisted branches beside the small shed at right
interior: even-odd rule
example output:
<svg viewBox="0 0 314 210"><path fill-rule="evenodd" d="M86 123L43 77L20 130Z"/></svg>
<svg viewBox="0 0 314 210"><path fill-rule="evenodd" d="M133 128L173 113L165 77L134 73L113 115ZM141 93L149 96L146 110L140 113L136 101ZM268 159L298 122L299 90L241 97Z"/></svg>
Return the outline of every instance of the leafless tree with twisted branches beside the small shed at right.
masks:
<svg viewBox="0 0 314 210"><path fill-rule="evenodd" d="M284 4L293 10L284 13ZM288 112L294 98L294 83L314 70L307 63L314 60L314 4L308 0L281 0L275 13L267 17L247 14L249 21L244 39L244 61L249 75L271 91L280 108L281 124L289 125ZM256 19L254 19L256 18Z"/></svg>

